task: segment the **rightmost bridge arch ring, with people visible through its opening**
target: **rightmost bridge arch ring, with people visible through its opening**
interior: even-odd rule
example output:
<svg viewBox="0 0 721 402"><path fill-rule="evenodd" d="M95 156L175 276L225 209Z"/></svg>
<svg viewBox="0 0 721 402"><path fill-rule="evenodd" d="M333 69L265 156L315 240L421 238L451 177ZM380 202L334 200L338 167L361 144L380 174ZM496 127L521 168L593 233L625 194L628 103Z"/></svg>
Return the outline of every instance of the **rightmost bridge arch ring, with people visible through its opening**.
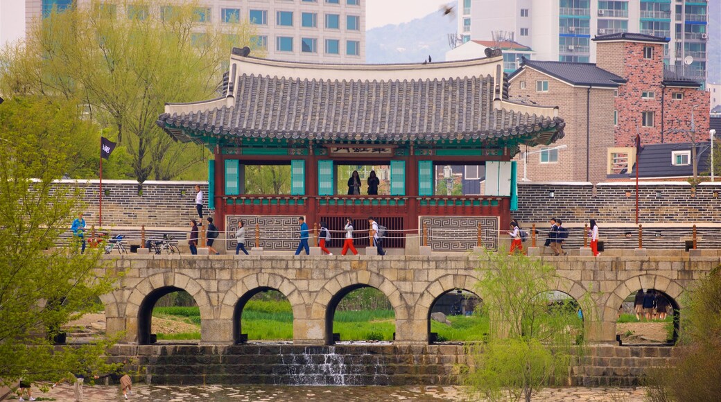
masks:
<svg viewBox="0 0 721 402"><path fill-rule="evenodd" d="M616 321L619 315L619 307L624 303L628 295L635 294L641 289L653 289L661 292L671 303L673 308L673 341L678 339L678 330L681 325L681 295L685 289L675 280L658 274L643 274L631 277L609 295L603 305L603 323L612 328L616 334Z"/></svg>

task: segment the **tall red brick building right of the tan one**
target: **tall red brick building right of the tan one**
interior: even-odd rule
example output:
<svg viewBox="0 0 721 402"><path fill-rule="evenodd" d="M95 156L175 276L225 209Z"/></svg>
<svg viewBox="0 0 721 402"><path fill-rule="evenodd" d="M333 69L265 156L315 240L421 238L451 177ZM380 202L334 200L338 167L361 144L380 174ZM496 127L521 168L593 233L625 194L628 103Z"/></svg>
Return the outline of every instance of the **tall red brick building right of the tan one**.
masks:
<svg viewBox="0 0 721 402"><path fill-rule="evenodd" d="M689 134L678 130L691 130L691 110L696 141L709 140L709 93L665 67L668 38L618 33L593 40L596 65L626 80L615 100L616 146L633 146L637 133L642 143L689 142Z"/></svg>

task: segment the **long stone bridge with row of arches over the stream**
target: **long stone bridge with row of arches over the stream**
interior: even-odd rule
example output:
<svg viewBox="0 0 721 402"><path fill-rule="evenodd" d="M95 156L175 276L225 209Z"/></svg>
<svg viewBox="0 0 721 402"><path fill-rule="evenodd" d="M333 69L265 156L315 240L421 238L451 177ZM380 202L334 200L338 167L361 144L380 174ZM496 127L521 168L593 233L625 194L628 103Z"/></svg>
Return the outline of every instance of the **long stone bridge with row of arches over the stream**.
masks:
<svg viewBox="0 0 721 402"><path fill-rule="evenodd" d="M107 258L107 257L106 257ZM474 290L482 275L474 254L455 256L121 256L105 269L125 271L102 296L109 334L128 344L151 343L151 313L163 295L186 290L200 306L201 343L240 339L245 303L278 290L293 308L293 343L332 344L335 308L348 292L376 287L395 311L395 344L428 344L430 309L451 290ZM590 341L612 342L622 300L641 288L681 295L720 263L717 256L543 257L557 269L554 289L573 298L590 291ZM477 293L477 292L476 292ZM483 295L479 296L483 298Z"/></svg>

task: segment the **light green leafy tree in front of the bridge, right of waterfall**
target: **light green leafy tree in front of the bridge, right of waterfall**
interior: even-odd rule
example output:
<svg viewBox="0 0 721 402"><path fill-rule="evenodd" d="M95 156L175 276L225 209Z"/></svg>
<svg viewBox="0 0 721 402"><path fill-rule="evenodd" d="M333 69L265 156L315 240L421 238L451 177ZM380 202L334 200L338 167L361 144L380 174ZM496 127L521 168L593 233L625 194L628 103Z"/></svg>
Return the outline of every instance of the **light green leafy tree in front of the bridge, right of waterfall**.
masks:
<svg viewBox="0 0 721 402"><path fill-rule="evenodd" d="M540 259L487 254L477 285L489 318L487 342L469 347L464 383L474 399L518 401L544 385L562 385L583 345L584 300L555 300L558 278ZM590 303L589 307L590 307Z"/></svg>

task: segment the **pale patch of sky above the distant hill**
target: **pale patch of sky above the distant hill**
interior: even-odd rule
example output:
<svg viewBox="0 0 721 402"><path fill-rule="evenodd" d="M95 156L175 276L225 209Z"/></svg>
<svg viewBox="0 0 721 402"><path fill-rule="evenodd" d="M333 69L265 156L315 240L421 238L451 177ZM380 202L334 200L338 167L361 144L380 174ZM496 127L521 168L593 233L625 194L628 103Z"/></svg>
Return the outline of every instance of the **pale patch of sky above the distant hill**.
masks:
<svg viewBox="0 0 721 402"><path fill-rule="evenodd" d="M366 30L425 17L454 0L366 0ZM455 19L456 17L448 16Z"/></svg>

